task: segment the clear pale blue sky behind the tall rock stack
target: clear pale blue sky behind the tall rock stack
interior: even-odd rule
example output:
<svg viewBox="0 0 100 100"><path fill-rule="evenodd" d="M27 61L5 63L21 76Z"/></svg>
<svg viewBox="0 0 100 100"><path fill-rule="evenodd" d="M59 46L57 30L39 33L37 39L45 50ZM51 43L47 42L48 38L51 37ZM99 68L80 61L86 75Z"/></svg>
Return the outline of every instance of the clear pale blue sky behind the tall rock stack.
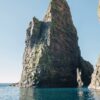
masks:
<svg viewBox="0 0 100 100"><path fill-rule="evenodd" d="M34 16L42 20L50 0L0 0L0 83L18 82L25 33ZM67 0L79 37L81 55L94 67L100 55L98 0Z"/></svg>

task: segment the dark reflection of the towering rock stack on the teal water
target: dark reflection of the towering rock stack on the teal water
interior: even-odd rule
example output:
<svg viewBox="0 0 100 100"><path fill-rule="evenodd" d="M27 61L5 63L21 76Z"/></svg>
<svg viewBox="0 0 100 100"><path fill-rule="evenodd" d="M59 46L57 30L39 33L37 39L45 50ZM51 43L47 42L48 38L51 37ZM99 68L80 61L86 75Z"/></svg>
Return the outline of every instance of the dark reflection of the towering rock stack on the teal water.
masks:
<svg viewBox="0 0 100 100"><path fill-rule="evenodd" d="M21 88L20 100L100 100L88 89Z"/></svg>

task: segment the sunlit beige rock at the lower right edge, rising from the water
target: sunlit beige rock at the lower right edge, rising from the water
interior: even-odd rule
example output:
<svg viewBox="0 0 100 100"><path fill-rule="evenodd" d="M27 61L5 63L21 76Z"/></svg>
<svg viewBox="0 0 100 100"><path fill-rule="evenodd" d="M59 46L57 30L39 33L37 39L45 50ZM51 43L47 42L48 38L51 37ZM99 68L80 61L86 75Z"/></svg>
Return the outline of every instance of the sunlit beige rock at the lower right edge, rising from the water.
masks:
<svg viewBox="0 0 100 100"><path fill-rule="evenodd" d="M100 57L96 64L96 69L92 75L92 81L90 84L90 88L100 89Z"/></svg>

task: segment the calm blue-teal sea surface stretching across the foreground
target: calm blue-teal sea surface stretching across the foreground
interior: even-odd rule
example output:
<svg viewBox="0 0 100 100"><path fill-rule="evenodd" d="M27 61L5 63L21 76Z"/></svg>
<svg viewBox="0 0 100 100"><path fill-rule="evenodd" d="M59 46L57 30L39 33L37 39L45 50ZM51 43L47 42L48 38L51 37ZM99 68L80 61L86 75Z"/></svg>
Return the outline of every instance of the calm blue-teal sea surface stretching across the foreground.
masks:
<svg viewBox="0 0 100 100"><path fill-rule="evenodd" d="M0 100L100 100L100 92L87 88L19 88L0 84Z"/></svg>

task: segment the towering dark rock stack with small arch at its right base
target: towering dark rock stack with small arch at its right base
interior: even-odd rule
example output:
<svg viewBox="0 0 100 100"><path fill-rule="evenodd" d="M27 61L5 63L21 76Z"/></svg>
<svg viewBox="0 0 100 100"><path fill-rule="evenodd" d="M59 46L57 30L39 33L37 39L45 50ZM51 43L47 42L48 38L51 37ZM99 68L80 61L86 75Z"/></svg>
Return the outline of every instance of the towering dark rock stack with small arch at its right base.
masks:
<svg viewBox="0 0 100 100"><path fill-rule="evenodd" d="M25 43L21 86L77 87L77 69L89 85L93 66L81 57L66 0L52 0L43 21L33 18Z"/></svg>

